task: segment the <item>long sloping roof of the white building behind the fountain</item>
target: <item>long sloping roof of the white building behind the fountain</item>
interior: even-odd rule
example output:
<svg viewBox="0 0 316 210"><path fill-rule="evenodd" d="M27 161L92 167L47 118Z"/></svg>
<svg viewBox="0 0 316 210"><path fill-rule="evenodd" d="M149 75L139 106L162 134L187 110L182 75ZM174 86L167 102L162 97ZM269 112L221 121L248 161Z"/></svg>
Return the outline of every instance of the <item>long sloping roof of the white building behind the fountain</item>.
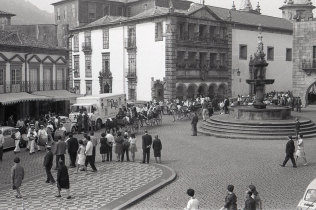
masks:
<svg viewBox="0 0 316 210"><path fill-rule="evenodd" d="M293 23L284 18L278 18L267 15L254 14L251 12L243 12L238 10L230 10L221 7L208 6L218 17L226 20L231 12L232 21L243 25L258 26L261 24L263 28L274 28L293 31Z"/></svg>

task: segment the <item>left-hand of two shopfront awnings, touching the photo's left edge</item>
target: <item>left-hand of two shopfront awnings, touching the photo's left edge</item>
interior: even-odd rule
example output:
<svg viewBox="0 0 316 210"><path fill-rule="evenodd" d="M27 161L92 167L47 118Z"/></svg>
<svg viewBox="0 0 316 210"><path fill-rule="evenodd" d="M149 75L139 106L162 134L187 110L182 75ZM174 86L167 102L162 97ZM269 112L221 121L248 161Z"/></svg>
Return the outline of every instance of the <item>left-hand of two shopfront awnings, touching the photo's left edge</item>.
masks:
<svg viewBox="0 0 316 210"><path fill-rule="evenodd" d="M26 92L20 93L4 93L0 94L0 103L2 105L16 104L26 101L49 101L50 98L46 96L32 95Z"/></svg>

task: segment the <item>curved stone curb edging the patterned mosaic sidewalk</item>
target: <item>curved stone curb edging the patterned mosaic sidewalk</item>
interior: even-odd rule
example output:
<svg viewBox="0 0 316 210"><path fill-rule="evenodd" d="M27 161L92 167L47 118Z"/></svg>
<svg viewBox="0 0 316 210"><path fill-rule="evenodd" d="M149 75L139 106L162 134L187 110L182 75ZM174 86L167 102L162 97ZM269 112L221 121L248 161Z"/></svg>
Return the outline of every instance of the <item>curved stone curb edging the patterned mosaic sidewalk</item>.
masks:
<svg viewBox="0 0 316 210"><path fill-rule="evenodd" d="M113 209L113 210L127 209L128 207L131 207L132 205L141 201L142 199L146 198L147 196L160 190L164 186L170 184L171 182L173 182L177 178L177 173L172 168L165 166L165 165L156 164L156 163L154 163L153 165L155 165L158 168L161 168L164 172L167 171L167 173L170 173L169 177L164 179L162 176L161 178L159 178L159 179L161 179L161 181L158 184L156 184L156 185L150 187L149 189L139 193L138 195L134 196L133 198L128 199L126 201L124 200L123 202L119 202L117 200L113 201L112 203L101 207L100 210L103 210L103 209ZM159 179L157 179L157 180L159 180ZM155 181L157 181L157 180L155 180ZM117 205L117 204L119 204L119 205Z"/></svg>

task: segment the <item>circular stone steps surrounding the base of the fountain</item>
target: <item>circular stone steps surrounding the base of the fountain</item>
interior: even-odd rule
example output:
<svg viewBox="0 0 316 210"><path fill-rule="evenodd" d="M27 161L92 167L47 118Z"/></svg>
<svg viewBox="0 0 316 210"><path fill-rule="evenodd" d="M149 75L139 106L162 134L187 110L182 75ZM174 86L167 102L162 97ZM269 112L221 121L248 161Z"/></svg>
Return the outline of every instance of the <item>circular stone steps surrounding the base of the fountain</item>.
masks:
<svg viewBox="0 0 316 210"><path fill-rule="evenodd" d="M301 134L304 138L316 137L316 125L300 118ZM285 140L287 136L295 136L295 118L290 120L242 121L230 115L215 115L202 121L199 133L220 138L251 140Z"/></svg>

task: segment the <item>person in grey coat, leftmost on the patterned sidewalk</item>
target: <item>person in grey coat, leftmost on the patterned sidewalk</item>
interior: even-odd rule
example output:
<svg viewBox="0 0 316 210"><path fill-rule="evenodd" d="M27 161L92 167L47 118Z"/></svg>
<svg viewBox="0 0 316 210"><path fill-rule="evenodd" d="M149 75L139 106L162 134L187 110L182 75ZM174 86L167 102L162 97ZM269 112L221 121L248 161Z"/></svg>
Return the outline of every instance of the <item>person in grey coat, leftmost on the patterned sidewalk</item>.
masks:
<svg viewBox="0 0 316 210"><path fill-rule="evenodd" d="M16 198L22 198L20 187L24 179L24 168L20 165L20 158L14 158L14 165L11 168L12 189L16 190Z"/></svg>

